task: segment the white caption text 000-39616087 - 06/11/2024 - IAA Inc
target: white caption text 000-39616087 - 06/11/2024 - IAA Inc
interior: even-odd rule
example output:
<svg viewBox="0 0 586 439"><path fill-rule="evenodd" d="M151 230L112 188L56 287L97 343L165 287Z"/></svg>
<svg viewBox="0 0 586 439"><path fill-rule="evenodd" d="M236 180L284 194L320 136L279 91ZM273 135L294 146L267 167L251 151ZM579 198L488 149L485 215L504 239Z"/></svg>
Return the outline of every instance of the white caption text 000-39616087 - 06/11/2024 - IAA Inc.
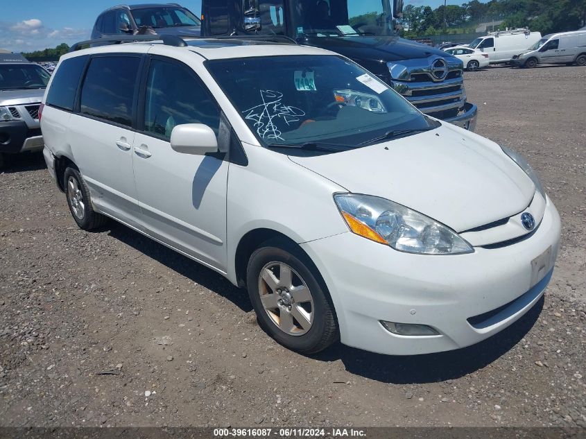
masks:
<svg viewBox="0 0 586 439"><path fill-rule="evenodd" d="M366 431L363 429L311 429L311 428L241 428L241 429L214 429L214 438L364 438Z"/></svg>

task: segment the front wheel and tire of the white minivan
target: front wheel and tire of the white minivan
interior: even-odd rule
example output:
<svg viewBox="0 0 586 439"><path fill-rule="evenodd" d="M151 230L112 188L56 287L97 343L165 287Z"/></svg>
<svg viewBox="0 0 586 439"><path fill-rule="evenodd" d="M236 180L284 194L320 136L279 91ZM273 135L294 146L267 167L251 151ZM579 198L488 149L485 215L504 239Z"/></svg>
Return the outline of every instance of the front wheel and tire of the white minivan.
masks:
<svg viewBox="0 0 586 439"><path fill-rule="evenodd" d="M281 239L267 241L250 256L246 273L259 325L275 341L300 354L315 354L338 340L329 295L299 248Z"/></svg>

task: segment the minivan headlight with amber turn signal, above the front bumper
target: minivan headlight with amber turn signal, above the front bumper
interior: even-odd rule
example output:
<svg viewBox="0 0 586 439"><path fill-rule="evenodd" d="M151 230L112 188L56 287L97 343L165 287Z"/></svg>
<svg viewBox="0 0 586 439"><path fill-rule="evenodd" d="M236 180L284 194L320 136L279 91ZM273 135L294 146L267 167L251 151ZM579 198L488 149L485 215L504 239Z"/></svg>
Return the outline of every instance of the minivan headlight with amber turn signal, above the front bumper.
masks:
<svg viewBox="0 0 586 439"><path fill-rule="evenodd" d="M420 255L474 252L454 230L393 201L354 193L335 195L334 200L352 232L395 250Z"/></svg>

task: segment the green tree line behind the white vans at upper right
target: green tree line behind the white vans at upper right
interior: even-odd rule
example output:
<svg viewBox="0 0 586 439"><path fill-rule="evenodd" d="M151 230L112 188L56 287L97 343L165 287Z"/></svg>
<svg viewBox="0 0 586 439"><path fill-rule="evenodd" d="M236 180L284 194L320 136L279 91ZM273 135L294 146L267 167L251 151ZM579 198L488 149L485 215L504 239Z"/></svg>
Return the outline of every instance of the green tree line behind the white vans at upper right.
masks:
<svg viewBox="0 0 586 439"><path fill-rule="evenodd" d="M485 22L501 21L498 27L528 27L542 35L576 31L586 24L586 0L472 0L462 6L408 4L403 10L402 26L407 38L443 33L471 33Z"/></svg>

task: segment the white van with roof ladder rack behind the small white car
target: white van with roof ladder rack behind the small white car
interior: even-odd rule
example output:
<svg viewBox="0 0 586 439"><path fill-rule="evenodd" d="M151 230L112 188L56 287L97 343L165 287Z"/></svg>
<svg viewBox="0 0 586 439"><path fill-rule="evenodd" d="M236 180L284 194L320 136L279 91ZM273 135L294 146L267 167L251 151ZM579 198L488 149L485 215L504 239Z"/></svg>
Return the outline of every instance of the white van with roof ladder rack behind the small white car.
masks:
<svg viewBox="0 0 586 439"><path fill-rule="evenodd" d="M490 64L510 62L513 55L526 51L541 39L541 33L527 29L515 31L489 32L485 37L478 37L469 46L488 53Z"/></svg>

